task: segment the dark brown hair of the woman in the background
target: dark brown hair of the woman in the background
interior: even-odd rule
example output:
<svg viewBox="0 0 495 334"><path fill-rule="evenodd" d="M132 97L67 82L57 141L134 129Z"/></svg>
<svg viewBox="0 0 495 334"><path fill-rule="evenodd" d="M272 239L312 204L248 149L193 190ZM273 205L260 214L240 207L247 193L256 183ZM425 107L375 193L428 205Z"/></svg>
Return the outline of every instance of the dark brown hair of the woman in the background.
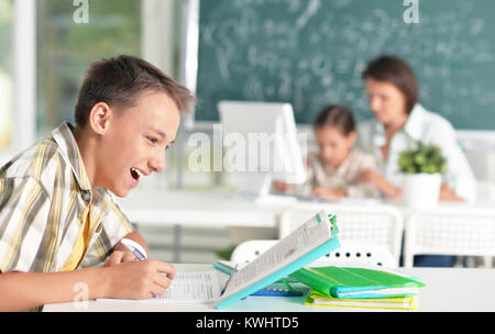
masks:
<svg viewBox="0 0 495 334"><path fill-rule="evenodd" d="M406 97L406 112L413 111L419 99L418 82L413 69L400 58L392 55L380 56L362 73L363 79L386 81L399 89Z"/></svg>

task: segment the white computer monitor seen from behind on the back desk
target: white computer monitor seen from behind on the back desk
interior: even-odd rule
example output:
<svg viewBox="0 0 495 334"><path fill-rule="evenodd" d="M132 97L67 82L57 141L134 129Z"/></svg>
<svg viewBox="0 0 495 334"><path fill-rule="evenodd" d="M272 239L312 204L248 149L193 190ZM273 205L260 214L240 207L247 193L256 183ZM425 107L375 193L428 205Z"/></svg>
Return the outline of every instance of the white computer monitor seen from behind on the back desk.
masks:
<svg viewBox="0 0 495 334"><path fill-rule="evenodd" d="M242 174L241 193L263 200L273 181L306 181L290 103L220 101L218 109L224 162L230 171Z"/></svg>

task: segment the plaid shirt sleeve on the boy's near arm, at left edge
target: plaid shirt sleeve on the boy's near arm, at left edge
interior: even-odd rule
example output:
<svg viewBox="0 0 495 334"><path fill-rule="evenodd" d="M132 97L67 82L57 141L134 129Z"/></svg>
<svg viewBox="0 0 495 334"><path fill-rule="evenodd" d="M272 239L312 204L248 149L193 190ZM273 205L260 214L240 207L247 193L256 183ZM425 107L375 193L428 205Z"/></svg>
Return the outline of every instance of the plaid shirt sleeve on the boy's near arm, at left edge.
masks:
<svg viewBox="0 0 495 334"><path fill-rule="evenodd" d="M50 199L33 178L0 179L0 271L30 271L42 246Z"/></svg>

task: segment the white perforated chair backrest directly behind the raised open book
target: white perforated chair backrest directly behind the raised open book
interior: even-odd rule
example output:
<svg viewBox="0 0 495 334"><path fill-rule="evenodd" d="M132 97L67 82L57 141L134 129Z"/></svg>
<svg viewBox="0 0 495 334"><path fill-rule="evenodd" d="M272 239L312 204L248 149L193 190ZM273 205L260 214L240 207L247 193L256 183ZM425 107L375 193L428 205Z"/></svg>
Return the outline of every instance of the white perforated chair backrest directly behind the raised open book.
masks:
<svg viewBox="0 0 495 334"><path fill-rule="evenodd" d="M399 261L404 223L399 211L389 205L298 203L282 213L278 237L286 236L322 209L337 214L341 242L386 247Z"/></svg>

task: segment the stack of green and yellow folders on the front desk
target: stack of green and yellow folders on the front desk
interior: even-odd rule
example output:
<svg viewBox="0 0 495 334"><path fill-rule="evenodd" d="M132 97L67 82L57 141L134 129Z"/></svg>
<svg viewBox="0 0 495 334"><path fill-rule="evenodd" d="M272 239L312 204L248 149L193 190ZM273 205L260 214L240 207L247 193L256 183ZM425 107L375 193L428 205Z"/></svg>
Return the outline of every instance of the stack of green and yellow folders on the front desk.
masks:
<svg viewBox="0 0 495 334"><path fill-rule="evenodd" d="M403 275L370 268L301 268L290 275L311 288L305 304L414 310L425 283Z"/></svg>

